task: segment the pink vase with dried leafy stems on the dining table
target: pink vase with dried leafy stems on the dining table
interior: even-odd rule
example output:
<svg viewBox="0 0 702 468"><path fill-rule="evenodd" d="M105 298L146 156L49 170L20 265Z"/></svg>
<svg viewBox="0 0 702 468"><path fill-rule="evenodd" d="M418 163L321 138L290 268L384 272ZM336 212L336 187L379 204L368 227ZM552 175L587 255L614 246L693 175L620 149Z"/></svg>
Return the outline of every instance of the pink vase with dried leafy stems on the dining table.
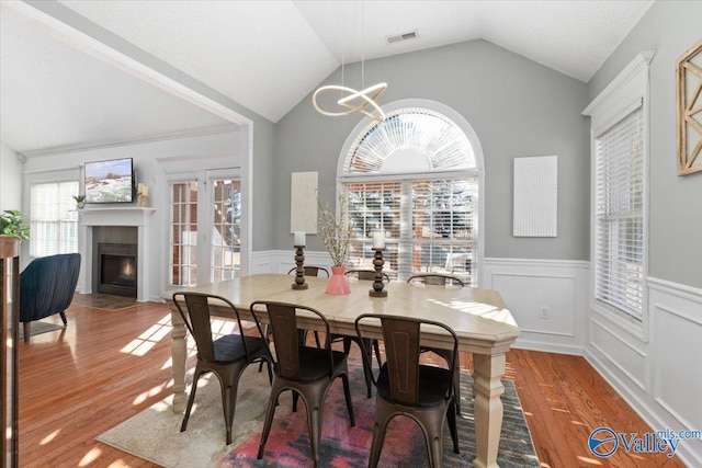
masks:
<svg viewBox="0 0 702 468"><path fill-rule="evenodd" d="M331 255L333 265L331 266L331 278L327 285L329 294L349 294L349 282L346 277L346 262L349 259L349 242L353 230L353 222L348 217L346 209L347 201L343 195L339 196L339 209L341 216L331 210L329 205L322 206L319 199L319 216L317 218L317 232Z"/></svg>

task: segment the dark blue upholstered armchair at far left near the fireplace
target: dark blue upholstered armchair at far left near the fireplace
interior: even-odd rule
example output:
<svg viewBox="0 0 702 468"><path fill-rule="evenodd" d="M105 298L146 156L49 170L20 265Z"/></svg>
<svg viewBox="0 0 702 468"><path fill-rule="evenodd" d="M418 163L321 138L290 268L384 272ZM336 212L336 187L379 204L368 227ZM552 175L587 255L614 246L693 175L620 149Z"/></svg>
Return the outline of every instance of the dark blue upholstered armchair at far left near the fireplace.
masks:
<svg viewBox="0 0 702 468"><path fill-rule="evenodd" d="M24 342L30 341L31 323L70 306L80 273L80 253L61 253L33 260L20 274L20 321L24 326Z"/></svg>

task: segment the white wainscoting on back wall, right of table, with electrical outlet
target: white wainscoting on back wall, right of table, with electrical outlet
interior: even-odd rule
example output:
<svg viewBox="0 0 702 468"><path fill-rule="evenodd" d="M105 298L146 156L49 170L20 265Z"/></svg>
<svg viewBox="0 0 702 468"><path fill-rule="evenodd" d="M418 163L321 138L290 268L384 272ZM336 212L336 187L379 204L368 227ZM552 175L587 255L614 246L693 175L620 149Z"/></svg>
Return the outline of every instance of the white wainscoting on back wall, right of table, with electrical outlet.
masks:
<svg viewBox="0 0 702 468"><path fill-rule="evenodd" d="M589 263L486 259L480 285L497 289L522 330L514 347L582 355Z"/></svg>

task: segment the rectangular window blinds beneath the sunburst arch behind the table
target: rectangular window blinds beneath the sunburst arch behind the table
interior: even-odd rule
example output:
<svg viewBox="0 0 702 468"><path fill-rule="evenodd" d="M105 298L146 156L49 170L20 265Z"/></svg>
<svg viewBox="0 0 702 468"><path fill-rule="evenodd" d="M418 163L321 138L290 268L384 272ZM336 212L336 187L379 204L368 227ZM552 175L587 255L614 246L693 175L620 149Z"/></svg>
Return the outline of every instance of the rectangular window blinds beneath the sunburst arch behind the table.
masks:
<svg viewBox="0 0 702 468"><path fill-rule="evenodd" d="M386 232L384 272L405 281L418 272L477 284L477 179L348 183L353 236L349 261L372 269L373 232Z"/></svg>

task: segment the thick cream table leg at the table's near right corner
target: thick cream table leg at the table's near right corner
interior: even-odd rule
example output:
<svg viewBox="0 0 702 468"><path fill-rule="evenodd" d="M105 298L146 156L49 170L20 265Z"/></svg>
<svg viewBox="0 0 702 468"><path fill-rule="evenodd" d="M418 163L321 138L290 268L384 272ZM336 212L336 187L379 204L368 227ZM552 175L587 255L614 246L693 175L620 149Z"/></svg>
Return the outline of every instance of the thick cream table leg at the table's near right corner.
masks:
<svg viewBox="0 0 702 468"><path fill-rule="evenodd" d="M502 430L502 401L505 392L505 354L473 354L473 396L475 412L475 468L498 468L497 449Z"/></svg>

